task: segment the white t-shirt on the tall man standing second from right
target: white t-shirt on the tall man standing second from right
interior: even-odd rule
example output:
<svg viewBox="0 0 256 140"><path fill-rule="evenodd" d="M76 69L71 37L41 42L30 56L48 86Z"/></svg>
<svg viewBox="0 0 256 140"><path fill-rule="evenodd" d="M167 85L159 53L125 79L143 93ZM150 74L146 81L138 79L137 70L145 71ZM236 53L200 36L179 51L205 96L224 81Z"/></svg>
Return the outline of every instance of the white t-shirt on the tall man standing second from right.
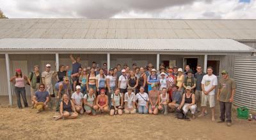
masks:
<svg viewBox="0 0 256 140"><path fill-rule="evenodd" d="M212 86L218 85L218 79L217 76L215 76L214 74L212 74L211 76L206 74L204 75L201 83L204 84L204 90L208 91ZM215 95L215 89L209 92L209 95Z"/></svg>

